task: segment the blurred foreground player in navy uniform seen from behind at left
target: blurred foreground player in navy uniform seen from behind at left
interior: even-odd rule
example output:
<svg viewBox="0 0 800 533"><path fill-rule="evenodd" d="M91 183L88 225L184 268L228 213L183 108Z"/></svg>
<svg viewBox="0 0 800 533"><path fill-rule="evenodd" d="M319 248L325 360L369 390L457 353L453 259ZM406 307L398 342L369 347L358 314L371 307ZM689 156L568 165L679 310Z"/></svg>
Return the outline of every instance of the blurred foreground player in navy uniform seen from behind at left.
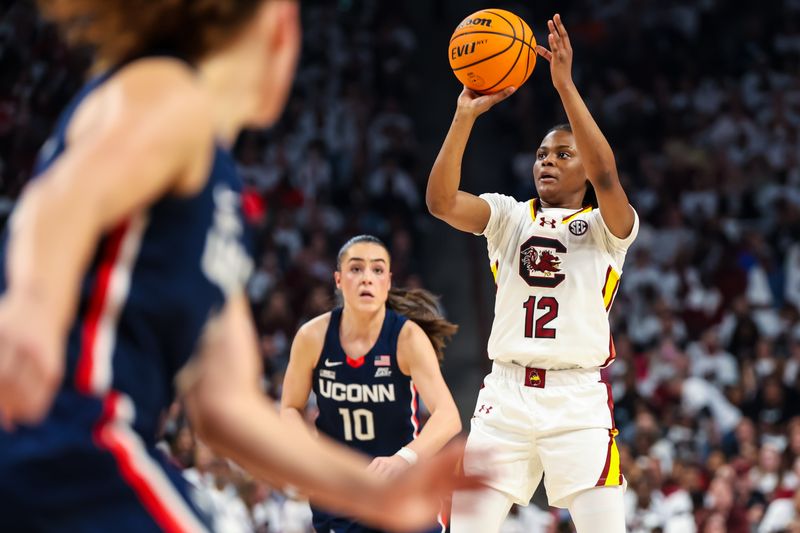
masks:
<svg viewBox="0 0 800 533"><path fill-rule="evenodd" d="M95 47L99 75L43 146L3 238L0 530L213 529L155 449L176 394L253 474L388 528L431 523L439 497L474 485L448 475L454 452L388 485L366 458L281 427L259 389L229 147L280 115L299 5L40 5Z"/></svg>

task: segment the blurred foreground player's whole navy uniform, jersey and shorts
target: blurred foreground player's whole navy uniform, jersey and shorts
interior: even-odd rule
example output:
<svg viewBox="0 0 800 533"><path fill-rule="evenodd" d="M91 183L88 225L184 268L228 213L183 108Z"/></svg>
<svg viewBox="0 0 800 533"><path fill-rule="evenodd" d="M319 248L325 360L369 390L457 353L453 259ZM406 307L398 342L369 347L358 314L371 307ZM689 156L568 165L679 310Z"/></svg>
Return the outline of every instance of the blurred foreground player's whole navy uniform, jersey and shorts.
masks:
<svg viewBox="0 0 800 533"><path fill-rule="evenodd" d="M36 174L58 159L73 113L111 75L74 98ZM240 190L232 156L217 147L200 192L164 197L103 236L83 279L53 409L40 426L0 430L0 530L206 528L155 438L176 373L252 270ZM81 513L86 501L107 516Z"/></svg>

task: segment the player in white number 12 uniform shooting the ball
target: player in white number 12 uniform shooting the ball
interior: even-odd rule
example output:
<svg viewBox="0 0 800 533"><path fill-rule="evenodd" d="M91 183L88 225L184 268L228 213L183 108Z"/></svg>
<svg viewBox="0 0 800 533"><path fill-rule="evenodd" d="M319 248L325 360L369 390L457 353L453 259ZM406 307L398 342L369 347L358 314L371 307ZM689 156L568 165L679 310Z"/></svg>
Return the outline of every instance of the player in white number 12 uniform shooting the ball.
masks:
<svg viewBox="0 0 800 533"><path fill-rule="evenodd" d="M455 494L453 533L498 531L512 504L528 504L543 475L550 504L569 509L578 533L625 530L618 431L600 369L614 360L607 313L638 219L611 147L573 83L561 17L547 26L549 49L536 52L550 63L569 124L551 128L536 152L538 198L519 202L459 189L475 120L513 87L484 96L462 91L428 180L434 216L486 237L497 284L488 345L494 362L478 395L464 465L492 475L492 490L474 499ZM491 449L490 461L470 460L478 449ZM469 507L474 516L462 513Z"/></svg>

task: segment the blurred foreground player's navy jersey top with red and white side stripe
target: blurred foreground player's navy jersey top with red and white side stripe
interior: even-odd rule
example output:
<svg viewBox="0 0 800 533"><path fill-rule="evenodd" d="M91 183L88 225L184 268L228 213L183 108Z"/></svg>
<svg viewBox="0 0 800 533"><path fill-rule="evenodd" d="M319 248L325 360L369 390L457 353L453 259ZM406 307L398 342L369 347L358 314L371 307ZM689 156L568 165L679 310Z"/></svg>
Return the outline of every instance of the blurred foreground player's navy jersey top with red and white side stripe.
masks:
<svg viewBox="0 0 800 533"><path fill-rule="evenodd" d="M40 151L35 175L58 160L75 110L113 73L90 81L65 109ZM233 157L215 147L202 190L165 196L121 221L99 242L83 278L63 389L127 396L135 409L133 428L148 443L205 324L252 270L241 188ZM5 238L0 258L4 291Z"/></svg>

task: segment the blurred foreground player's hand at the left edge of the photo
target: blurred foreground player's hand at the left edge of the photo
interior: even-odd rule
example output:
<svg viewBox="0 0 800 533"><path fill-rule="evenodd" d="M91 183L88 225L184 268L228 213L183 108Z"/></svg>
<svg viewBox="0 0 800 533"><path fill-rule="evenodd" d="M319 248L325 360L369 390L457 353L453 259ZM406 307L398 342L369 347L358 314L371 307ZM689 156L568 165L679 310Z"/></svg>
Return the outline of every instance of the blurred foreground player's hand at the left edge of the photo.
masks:
<svg viewBox="0 0 800 533"><path fill-rule="evenodd" d="M64 375L63 342L43 306L24 295L0 298L0 423L35 424L47 415Z"/></svg>

